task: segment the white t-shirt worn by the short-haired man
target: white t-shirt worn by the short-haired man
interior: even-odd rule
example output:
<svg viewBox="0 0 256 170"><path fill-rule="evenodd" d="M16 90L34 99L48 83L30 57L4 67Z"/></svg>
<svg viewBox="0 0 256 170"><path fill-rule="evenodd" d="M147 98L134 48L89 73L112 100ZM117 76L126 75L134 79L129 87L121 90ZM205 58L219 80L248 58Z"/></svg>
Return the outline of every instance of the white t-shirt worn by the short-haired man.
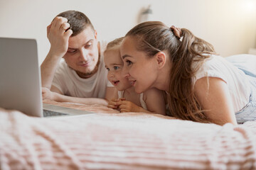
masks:
<svg viewBox="0 0 256 170"><path fill-rule="evenodd" d="M75 70L63 60L54 74L53 86L64 95L80 98L105 98L107 88L107 69L104 63L104 51L107 41L100 42L100 64L97 72L90 78L82 79Z"/></svg>

